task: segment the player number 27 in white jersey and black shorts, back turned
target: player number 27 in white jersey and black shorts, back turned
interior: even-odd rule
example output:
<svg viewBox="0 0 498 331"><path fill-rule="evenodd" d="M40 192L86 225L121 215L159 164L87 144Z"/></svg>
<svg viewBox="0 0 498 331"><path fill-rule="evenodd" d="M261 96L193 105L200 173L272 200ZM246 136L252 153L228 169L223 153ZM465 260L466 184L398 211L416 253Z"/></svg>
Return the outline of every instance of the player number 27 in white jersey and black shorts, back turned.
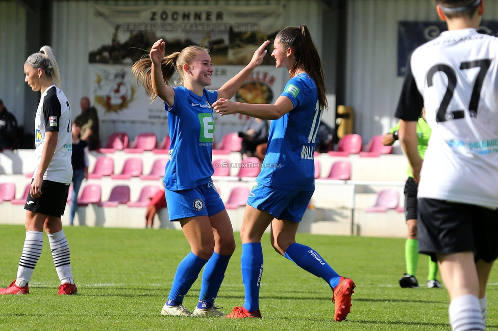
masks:
<svg viewBox="0 0 498 331"><path fill-rule="evenodd" d="M498 257L498 38L477 32L483 0L437 0L448 30L411 56L396 117L419 180L419 252L437 259L453 330L484 330ZM422 160L415 134L426 107Z"/></svg>

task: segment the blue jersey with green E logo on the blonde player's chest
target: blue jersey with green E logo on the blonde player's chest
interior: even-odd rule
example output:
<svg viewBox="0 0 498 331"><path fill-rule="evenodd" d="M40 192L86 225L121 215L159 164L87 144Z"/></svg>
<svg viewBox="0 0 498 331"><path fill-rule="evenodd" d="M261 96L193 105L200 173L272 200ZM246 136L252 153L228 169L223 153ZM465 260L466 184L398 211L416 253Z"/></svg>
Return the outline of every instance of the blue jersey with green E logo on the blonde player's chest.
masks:
<svg viewBox="0 0 498 331"><path fill-rule="evenodd" d="M164 173L164 187L172 190L194 188L211 181L214 173L214 121L212 104L218 92L204 89L198 96L183 86L176 87L168 127L171 144Z"/></svg>

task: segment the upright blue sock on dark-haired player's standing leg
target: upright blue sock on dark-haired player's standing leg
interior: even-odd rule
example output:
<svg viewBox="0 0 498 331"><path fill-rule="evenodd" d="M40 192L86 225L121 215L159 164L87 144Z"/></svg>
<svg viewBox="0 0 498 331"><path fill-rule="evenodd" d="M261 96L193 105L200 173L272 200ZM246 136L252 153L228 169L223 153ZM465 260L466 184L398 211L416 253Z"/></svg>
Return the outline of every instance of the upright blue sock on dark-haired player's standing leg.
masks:
<svg viewBox="0 0 498 331"><path fill-rule="evenodd" d="M240 262L245 290L244 308L254 312L259 309L259 285L263 275L261 242L243 243Z"/></svg>

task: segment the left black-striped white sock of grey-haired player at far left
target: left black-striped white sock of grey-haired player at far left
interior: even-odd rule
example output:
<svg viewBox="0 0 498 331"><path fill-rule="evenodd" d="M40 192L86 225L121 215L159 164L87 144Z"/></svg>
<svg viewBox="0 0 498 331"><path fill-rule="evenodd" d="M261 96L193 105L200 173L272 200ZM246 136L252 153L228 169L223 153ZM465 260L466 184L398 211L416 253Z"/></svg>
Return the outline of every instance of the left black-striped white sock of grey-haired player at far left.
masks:
<svg viewBox="0 0 498 331"><path fill-rule="evenodd" d="M28 231L24 246L22 247L21 258L19 259L19 267L17 267L16 285L24 287L31 281L36 263L40 258L41 249L43 247L43 232Z"/></svg>

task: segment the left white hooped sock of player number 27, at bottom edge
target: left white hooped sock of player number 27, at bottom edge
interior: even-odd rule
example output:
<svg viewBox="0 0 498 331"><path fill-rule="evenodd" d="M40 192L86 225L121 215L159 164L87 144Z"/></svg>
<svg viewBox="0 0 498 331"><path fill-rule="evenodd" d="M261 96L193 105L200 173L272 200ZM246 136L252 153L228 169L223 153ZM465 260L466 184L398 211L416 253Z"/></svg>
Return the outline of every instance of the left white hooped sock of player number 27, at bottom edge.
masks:
<svg viewBox="0 0 498 331"><path fill-rule="evenodd" d="M472 294L465 294L451 301L450 324L453 331L484 331L484 320L479 299Z"/></svg>

